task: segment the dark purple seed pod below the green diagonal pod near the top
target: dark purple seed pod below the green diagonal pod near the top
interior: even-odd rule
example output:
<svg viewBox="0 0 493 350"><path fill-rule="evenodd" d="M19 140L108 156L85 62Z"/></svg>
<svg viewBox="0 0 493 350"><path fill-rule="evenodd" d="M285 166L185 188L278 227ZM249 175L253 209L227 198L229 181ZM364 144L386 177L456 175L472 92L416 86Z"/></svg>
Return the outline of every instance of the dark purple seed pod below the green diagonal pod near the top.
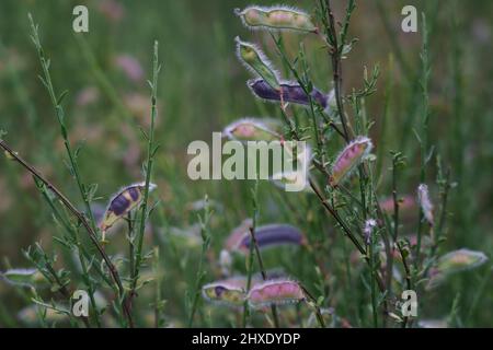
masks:
<svg viewBox="0 0 493 350"><path fill-rule="evenodd" d="M280 94L283 94L283 101L291 102L300 105L310 105L310 98L305 93L305 90L297 82L282 82L280 89L273 89L263 79L252 79L246 82L248 86L254 95L266 101L279 101ZM310 93L311 98L322 106L323 109L330 107L330 100L332 94L324 94L321 91L313 88Z"/></svg>

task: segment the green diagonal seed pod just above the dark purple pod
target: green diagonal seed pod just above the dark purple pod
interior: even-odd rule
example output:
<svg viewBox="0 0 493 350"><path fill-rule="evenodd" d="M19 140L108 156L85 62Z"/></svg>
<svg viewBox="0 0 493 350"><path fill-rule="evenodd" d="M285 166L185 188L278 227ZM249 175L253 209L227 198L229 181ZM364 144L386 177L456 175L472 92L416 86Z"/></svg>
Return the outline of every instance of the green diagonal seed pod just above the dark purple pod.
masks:
<svg viewBox="0 0 493 350"><path fill-rule="evenodd" d="M241 62L253 74L261 77L273 89L279 89L279 73L273 68L273 65L256 45L242 42L238 36L237 55Z"/></svg>

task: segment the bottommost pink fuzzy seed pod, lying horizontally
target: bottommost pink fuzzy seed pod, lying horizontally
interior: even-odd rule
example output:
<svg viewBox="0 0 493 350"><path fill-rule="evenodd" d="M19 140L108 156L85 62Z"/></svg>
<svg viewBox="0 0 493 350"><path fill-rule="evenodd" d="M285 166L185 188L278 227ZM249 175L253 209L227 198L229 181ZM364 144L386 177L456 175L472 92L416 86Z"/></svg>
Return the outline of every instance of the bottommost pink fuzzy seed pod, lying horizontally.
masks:
<svg viewBox="0 0 493 350"><path fill-rule="evenodd" d="M255 284L246 295L252 308L299 303L307 299L303 289L293 280L268 280Z"/></svg>

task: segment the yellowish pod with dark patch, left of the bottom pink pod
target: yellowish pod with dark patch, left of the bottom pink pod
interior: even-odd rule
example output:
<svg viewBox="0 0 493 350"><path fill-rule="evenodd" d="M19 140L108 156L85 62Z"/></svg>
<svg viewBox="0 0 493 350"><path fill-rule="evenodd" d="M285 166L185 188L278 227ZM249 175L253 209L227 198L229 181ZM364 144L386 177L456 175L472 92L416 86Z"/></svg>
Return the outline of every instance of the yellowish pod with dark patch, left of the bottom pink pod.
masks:
<svg viewBox="0 0 493 350"><path fill-rule="evenodd" d="M205 284L202 295L205 300L226 306L242 306L245 298L245 278L231 278L223 281Z"/></svg>

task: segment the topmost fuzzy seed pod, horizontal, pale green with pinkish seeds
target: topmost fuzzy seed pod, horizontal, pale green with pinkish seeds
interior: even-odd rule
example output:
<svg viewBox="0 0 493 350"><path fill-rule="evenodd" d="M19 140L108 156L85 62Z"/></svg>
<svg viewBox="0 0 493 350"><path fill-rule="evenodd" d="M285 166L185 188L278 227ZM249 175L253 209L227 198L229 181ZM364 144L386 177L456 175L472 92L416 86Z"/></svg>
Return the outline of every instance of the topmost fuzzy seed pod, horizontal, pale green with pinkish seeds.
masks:
<svg viewBox="0 0 493 350"><path fill-rule="evenodd" d="M250 28L290 30L317 33L311 16L298 9L288 7L248 7L243 11L236 9L234 13Z"/></svg>

